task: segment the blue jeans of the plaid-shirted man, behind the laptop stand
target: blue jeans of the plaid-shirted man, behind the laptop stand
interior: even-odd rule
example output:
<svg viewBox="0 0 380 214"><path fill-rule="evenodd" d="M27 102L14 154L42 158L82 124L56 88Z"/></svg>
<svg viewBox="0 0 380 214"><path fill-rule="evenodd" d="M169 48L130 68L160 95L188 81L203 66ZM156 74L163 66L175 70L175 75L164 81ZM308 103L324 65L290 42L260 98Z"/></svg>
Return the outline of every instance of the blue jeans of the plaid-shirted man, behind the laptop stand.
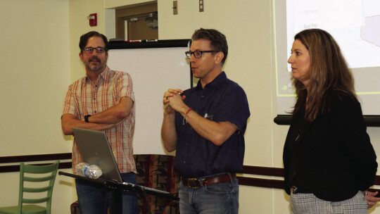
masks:
<svg viewBox="0 0 380 214"><path fill-rule="evenodd" d="M134 172L121 173L122 180L136 184L136 174ZM112 192L103 187L95 187L84 184L81 180L76 179L78 203L81 214L106 214L107 209L112 206ZM112 210L111 210L112 213ZM134 192L123 193L122 195L122 213L137 214L137 196Z"/></svg>

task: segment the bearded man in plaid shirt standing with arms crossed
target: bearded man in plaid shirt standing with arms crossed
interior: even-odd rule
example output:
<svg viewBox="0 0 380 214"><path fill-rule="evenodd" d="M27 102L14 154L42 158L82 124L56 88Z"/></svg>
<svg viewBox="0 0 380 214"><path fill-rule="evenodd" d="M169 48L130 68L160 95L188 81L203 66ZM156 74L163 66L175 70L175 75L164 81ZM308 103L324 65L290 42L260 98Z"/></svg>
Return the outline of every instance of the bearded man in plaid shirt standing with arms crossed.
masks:
<svg viewBox="0 0 380 214"><path fill-rule="evenodd" d="M72 127L106 132L120 175L125 182L136 183L132 139L134 134L134 93L128 73L110 70L108 40L99 32L80 37L80 59L86 77L70 85L63 105L62 130L72 135ZM72 168L75 172L82 157L76 141L72 146ZM111 206L111 193L75 180L80 212L106 213ZM138 213L137 198L123 195L123 213Z"/></svg>

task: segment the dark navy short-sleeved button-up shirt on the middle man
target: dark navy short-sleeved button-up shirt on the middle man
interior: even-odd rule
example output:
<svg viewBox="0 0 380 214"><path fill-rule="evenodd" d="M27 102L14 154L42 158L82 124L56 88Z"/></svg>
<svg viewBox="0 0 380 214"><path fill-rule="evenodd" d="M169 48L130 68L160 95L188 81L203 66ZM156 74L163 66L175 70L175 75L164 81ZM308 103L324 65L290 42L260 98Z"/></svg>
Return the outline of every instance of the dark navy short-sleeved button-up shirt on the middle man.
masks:
<svg viewBox="0 0 380 214"><path fill-rule="evenodd" d="M244 132L250 116L246 93L223 72L202 89L184 91L187 106L215 122L231 122L238 127L221 146L201 137L182 115L175 114L178 134L175 171L183 177L205 177L223 172L243 172Z"/></svg>

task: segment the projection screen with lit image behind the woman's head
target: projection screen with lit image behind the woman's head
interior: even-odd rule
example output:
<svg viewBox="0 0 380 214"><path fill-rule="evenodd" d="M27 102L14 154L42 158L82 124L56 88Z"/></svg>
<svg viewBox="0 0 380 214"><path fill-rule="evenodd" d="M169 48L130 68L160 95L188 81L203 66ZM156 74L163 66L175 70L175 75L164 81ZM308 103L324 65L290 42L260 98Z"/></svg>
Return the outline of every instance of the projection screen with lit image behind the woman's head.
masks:
<svg viewBox="0 0 380 214"><path fill-rule="evenodd" d="M341 47L353 71L357 94L362 97L378 94L380 97L379 0L286 0L286 13L281 10L284 1L274 1L276 8L281 6L274 19L277 96L294 96L291 66L286 63L294 35L305 29L320 28L329 32ZM286 32L286 39L283 32Z"/></svg>

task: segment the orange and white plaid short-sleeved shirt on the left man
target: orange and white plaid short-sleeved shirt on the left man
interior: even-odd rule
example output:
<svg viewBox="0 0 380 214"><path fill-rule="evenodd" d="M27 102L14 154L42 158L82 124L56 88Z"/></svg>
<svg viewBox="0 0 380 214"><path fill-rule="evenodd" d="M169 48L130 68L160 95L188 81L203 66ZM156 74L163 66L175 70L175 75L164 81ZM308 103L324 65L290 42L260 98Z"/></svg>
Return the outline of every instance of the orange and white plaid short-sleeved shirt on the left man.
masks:
<svg viewBox="0 0 380 214"><path fill-rule="evenodd" d="M106 66L95 84L91 84L88 77L83 77L70 85L63 104L63 113L73 114L77 119L82 120L84 115L95 115L115 106L123 96L134 101L132 78L128 73L110 70ZM120 173L136 173L132 148L134 106L128 117L119 125L104 130ZM74 139L72 146L72 169L74 172L75 166L80 162L82 162L82 156Z"/></svg>

